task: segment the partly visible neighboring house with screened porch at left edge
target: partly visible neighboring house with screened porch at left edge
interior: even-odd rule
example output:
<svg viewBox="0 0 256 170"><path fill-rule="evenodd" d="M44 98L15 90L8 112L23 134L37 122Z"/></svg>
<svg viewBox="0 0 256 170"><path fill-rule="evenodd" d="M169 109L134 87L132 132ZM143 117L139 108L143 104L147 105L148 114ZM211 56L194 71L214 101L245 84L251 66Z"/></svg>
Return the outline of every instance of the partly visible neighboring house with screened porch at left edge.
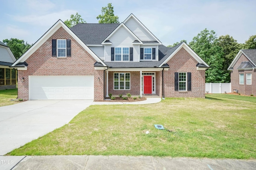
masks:
<svg viewBox="0 0 256 170"><path fill-rule="evenodd" d="M10 48L0 41L0 90L16 88L17 70L9 67L15 61Z"/></svg>

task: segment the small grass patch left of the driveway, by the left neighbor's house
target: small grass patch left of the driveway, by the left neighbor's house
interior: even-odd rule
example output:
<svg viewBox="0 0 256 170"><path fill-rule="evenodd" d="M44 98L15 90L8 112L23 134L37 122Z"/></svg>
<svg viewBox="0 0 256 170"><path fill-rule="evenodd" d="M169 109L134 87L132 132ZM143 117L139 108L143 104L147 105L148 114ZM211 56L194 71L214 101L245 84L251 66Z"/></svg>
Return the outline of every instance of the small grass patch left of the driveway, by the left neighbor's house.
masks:
<svg viewBox="0 0 256 170"><path fill-rule="evenodd" d="M18 90L10 89L10 90L0 90L0 107L16 104L17 100L15 100L18 96ZM14 101L11 101L14 100Z"/></svg>

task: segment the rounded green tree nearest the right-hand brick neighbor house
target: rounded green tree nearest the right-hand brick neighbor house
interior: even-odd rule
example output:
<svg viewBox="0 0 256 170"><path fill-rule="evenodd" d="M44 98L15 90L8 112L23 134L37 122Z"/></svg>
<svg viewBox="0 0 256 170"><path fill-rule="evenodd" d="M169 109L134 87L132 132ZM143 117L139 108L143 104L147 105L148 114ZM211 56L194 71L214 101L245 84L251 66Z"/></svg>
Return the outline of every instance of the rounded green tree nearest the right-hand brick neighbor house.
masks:
<svg viewBox="0 0 256 170"><path fill-rule="evenodd" d="M221 35L216 39L216 44L222 48L224 62L222 64L223 71L229 73L228 66L232 63L240 49L243 48L243 44L239 44L230 35ZM230 82L230 76L226 77L224 82Z"/></svg>

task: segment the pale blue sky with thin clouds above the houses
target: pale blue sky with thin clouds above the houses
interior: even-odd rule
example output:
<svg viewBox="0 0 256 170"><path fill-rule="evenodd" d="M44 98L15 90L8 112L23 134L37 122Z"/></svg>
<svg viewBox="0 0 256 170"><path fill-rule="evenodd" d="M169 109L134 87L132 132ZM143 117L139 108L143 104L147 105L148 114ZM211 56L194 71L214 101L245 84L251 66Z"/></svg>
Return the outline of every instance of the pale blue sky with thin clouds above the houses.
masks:
<svg viewBox="0 0 256 170"><path fill-rule="evenodd" d="M98 23L101 8L112 3L124 21L134 14L164 45L188 43L207 28L244 43L256 35L256 0L1 0L0 41L35 43L56 21L80 14Z"/></svg>

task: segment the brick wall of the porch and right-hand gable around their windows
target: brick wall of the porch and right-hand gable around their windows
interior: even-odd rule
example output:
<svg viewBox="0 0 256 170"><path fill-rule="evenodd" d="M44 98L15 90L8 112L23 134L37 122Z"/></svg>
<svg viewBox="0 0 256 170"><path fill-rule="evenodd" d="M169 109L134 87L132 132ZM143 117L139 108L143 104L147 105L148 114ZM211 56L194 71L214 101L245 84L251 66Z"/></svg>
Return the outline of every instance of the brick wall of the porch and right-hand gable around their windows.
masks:
<svg viewBox="0 0 256 170"><path fill-rule="evenodd" d="M198 62L184 49L180 49L167 64L168 71L164 71L164 97L205 97L205 70L196 70ZM156 74L156 94L162 97L162 71L152 71ZM191 72L191 91L179 92L174 90L174 73ZM130 72L130 90L114 90L114 72L108 73L108 93L118 95L130 93L140 94L140 72Z"/></svg>

